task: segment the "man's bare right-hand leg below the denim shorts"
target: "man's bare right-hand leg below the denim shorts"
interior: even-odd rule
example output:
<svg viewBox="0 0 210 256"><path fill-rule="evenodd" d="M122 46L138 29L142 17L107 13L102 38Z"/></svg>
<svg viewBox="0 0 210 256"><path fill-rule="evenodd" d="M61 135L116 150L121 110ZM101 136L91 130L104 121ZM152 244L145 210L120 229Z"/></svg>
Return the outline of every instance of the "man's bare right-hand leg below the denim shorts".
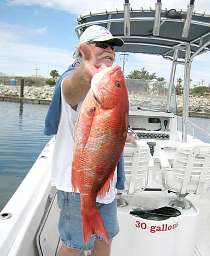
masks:
<svg viewBox="0 0 210 256"><path fill-rule="evenodd" d="M104 240L96 239L91 256L110 256L112 238L107 243Z"/></svg>

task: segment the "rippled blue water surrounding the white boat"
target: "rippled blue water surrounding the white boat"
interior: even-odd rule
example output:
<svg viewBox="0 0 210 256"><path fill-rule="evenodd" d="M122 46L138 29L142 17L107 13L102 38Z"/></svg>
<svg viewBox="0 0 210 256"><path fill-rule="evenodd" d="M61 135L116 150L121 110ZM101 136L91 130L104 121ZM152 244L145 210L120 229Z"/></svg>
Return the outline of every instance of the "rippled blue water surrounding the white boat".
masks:
<svg viewBox="0 0 210 256"><path fill-rule="evenodd" d="M51 139L43 134L48 105L0 101L0 210ZM189 120L210 133L210 119ZM178 122L181 127L181 122ZM192 134L192 130L188 130ZM210 138L195 133L210 143Z"/></svg>

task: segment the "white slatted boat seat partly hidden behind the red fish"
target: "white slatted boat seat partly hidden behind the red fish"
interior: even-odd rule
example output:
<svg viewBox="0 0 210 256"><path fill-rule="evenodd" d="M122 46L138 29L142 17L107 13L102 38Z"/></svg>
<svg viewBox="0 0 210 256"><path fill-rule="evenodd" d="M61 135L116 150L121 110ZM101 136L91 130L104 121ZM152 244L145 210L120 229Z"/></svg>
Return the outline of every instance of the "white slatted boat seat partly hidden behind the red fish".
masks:
<svg viewBox="0 0 210 256"><path fill-rule="evenodd" d="M137 140L137 147L131 143L125 143L124 168L125 168L125 191L128 194L143 191L148 184L149 168L154 165L148 144Z"/></svg>

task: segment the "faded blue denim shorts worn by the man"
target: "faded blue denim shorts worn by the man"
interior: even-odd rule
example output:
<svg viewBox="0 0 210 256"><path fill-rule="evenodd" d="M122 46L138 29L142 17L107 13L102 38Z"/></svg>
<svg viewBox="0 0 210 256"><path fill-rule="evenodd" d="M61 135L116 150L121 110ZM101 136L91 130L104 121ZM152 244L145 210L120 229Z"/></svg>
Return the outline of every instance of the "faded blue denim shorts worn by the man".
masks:
<svg viewBox="0 0 210 256"><path fill-rule="evenodd" d="M69 248L76 250L92 250L95 239L101 237L92 235L88 243L83 240L81 199L79 193L58 191L58 207L61 209L58 230L62 243ZM104 204L97 203L108 238L115 237L119 232L117 221L117 200Z"/></svg>

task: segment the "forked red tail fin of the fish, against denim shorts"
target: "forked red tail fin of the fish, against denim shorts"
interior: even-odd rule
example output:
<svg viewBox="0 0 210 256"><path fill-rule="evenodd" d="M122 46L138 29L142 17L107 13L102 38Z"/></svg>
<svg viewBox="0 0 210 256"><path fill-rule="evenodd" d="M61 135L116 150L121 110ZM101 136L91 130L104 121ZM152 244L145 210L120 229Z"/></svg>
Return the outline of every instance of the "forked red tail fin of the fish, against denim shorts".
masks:
<svg viewBox="0 0 210 256"><path fill-rule="evenodd" d="M91 213L86 213L82 210L82 226L85 243L88 243L88 239L92 234L104 238L108 243L107 231L97 207L93 209Z"/></svg>

